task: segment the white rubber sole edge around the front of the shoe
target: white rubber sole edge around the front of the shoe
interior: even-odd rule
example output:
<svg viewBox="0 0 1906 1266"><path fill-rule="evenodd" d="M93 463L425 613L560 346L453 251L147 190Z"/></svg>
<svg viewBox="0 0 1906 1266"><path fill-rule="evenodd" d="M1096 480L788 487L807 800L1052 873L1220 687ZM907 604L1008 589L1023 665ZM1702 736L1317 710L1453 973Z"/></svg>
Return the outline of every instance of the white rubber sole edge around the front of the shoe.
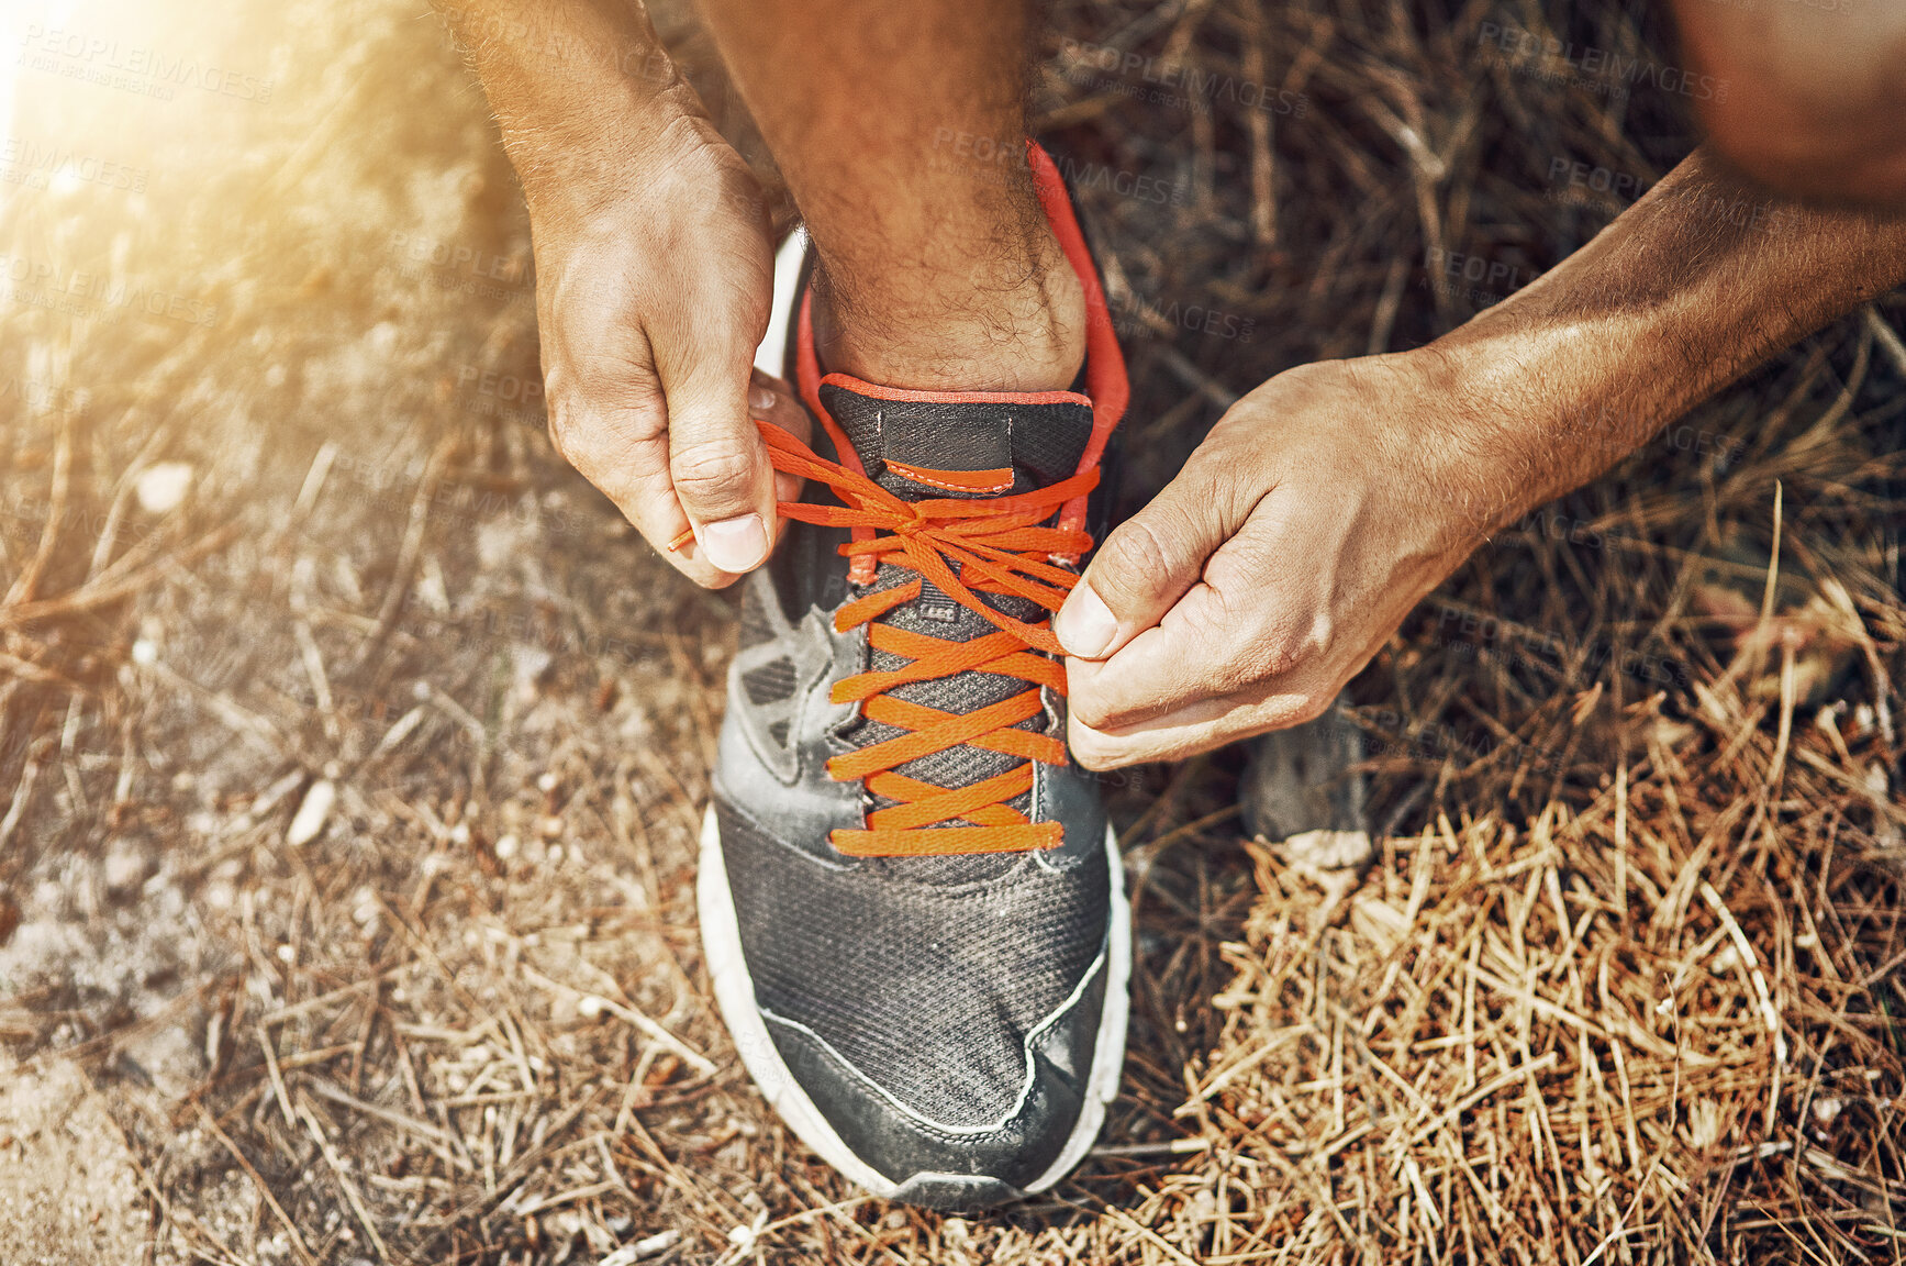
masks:
<svg viewBox="0 0 1906 1266"><path fill-rule="evenodd" d="M1065 1138L1052 1165L1029 1182L1022 1194L1044 1192L1069 1174L1105 1125L1105 1108L1119 1094L1119 1073L1125 1068L1125 1030L1130 1018L1132 980L1132 909L1125 900L1125 862L1119 841L1105 826L1105 854L1111 869L1111 913L1105 936L1105 1003L1100 1011L1098 1043L1092 1051L1092 1072L1086 1075L1085 1108L1073 1133ZM701 818L701 864L696 877L696 906L701 917L701 951L707 955L709 978L715 982L715 1003L720 1007L728 1033L741 1056L743 1068L760 1087L787 1129L808 1144L823 1161L841 1171L856 1186L882 1199L905 1199L905 1188L915 1182L970 1182L974 1174L919 1173L902 1182L886 1178L827 1123L821 1110L787 1072L781 1052L768 1035L768 1024L755 1003L755 980L747 974L741 955L741 930L736 923L734 896L728 890L728 869L722 864L720 827L715 807Z"/></svg>

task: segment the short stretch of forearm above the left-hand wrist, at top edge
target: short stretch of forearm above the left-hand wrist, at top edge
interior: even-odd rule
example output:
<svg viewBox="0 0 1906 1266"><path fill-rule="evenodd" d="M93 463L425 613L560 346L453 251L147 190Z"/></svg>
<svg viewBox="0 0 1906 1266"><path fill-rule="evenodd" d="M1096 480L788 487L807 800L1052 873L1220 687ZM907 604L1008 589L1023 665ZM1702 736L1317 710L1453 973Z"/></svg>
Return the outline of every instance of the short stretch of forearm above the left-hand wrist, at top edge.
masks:
<svg viewBox="0 0 1906 1266"><path fill-rule="evenodd" d="M640 0L433 0L469 55L532 212L608 198L669 118L700 112Z"/></svg>

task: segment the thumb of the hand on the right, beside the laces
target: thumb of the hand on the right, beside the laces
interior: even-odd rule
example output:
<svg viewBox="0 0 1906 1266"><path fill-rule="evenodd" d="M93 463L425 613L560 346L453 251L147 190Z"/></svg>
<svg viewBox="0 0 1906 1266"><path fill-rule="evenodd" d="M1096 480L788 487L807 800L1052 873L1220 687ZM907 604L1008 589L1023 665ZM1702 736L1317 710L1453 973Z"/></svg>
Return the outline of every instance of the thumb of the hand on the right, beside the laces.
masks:
<svg viewBox="0 0 1906 1266"><path fill-rule="evenodd" d="M1155 625L1241 526L1189 467L1149 505L1113 528L1052 620L1065 654L1104 660Z"/></svg>

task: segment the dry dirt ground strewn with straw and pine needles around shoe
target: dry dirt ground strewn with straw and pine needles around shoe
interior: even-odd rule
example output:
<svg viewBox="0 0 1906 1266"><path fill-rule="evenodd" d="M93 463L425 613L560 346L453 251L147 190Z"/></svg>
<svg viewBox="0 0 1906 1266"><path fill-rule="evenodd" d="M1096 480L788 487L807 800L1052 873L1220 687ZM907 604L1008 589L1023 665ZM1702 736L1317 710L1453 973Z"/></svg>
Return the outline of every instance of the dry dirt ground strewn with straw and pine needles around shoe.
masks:
<svg viewBox="0 0 1906 1266"><path fill-rule="evenodd" d="M1115 784L1104 1146L943 1218L806 1155L711 1007L734 601L553 458L528 223L438 21L8 21L6 1266L1898 1260L1900 296L1410 618L1349 698L1365 871L1247 845L1235 751ZM1128 503L1237 393L1458 324L1691 143L1614 8L1069 0L1041 57Z"/></svg>

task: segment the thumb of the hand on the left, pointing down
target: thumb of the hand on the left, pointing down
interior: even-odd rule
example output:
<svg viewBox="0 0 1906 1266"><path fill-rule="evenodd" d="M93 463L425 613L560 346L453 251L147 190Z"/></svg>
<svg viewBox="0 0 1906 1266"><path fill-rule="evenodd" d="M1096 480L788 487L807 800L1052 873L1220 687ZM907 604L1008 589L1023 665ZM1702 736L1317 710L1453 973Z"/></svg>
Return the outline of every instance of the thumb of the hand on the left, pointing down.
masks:
<svg viewBox="0 0 1906 1266"><path fill-rule="evenodd" d="M749 412L747 358L658 372L669 408L669 479L701 557L724 572L749 572L768 557L774 467Z"/></svg>

